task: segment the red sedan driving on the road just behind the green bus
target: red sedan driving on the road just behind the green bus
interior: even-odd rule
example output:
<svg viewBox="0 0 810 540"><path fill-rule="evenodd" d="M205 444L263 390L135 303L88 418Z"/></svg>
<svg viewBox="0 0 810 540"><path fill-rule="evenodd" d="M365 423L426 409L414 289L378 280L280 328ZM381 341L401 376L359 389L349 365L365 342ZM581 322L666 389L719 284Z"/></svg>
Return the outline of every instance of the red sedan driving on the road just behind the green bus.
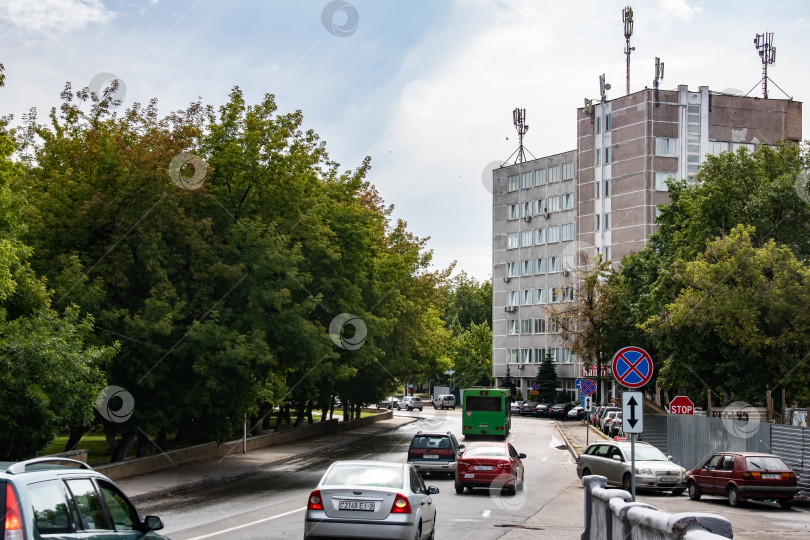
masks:
<svg viewBox="0 0 810 540"><path fill-rule="evenodd" d="M510 495L523 491L523 462L508 442L473 442L467 445L456 467L456 493L464 488L506 489Z"/></svg>

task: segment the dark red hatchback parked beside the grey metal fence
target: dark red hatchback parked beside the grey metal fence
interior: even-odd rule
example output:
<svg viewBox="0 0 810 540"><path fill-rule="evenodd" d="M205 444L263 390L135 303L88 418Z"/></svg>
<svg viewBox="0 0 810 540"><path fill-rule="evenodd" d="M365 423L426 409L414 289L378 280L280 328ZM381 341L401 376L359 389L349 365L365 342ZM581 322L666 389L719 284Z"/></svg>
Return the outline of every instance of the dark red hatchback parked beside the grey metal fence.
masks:
<svg viewBox="0 0 810 540"><path fill-rule="evenodd" d="M721 495L731 506L756 499L790 508L799 491L796 473L782 458L756 452L718 452L686 473L686 486L693 501L702 495Z"/></svg>

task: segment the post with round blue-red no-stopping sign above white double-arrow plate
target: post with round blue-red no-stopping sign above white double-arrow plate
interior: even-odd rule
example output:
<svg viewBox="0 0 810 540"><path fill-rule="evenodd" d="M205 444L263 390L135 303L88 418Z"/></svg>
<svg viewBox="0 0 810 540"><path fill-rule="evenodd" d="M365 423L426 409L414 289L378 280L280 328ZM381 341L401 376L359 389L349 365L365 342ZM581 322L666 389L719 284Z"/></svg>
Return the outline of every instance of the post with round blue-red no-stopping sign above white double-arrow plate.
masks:
<svg viewBox="0 0 810 540"><path fill-rule="evenodd" d="M652 379L652 358L639 347L623 347L613 356L613 376L627 388L641 388ZM622 394L622 431L630 434L630 495L636 500L636 434L644 431L644 394Z"/></svg>

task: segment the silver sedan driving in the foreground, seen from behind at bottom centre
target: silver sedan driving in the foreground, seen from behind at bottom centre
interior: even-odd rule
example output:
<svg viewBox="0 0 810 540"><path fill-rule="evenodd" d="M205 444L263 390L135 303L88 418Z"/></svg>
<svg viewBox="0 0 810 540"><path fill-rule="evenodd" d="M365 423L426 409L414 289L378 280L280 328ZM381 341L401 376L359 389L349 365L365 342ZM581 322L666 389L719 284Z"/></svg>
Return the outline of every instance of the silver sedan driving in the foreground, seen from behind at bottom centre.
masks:
<svg viewBox="0 0 810 540"><path fill-rule="evenodd" d="M336 461L309 495L304 539L433 538L438 492L407 463Z"/></svg>

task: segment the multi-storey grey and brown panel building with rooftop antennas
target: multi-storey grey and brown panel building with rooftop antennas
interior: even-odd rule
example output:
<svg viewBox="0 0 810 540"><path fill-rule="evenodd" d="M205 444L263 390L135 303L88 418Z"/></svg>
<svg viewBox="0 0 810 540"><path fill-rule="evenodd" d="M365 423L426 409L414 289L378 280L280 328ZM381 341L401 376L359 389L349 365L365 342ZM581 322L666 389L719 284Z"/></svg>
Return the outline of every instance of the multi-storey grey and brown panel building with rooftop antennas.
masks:
<svg viewBox="0 0 810 540"><path fill-rule="evenodd" d="M573 301L580 250L618 263L655 230L666 179L694 181L709 154L800 141L801 103L684 85L577 110L577 149L493 173L492 368L524 396L547 353L575 395L581 362L555 335L549 304Z"/></svg>

